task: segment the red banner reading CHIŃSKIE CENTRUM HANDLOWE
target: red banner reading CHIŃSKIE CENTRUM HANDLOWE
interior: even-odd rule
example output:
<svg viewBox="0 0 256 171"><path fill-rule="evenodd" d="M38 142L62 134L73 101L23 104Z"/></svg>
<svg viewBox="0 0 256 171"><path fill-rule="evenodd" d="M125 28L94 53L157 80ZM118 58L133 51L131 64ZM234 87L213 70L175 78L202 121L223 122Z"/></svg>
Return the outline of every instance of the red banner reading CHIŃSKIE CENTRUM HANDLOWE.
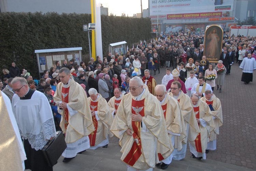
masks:
<svg viewBox="0 0 256 171"><path fill-rule="evenodd" d="M212 17L221 17L221 16L222 16L222 12L168 14L167 19L212 18Z"/></svg>

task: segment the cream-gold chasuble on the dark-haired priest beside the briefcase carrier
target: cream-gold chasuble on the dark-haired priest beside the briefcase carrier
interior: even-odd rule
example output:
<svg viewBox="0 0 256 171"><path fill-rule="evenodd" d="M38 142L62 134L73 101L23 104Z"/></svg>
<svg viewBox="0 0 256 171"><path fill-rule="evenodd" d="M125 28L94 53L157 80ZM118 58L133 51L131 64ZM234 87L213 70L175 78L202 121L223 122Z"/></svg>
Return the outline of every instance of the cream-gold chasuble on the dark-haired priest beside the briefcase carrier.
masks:
<svg viewBox="0 0 256 171"><path fill-rule="evenodd" d="M56 104L66 102L71 109L77 111L76 114L71 116L68 109L60 110L58 107L58 112L61 114L60 127L63 133L66 134L66 143L75 142L94 131L85 91L72 78L67 85L62 82L58 83L54 101Z"/></svg>

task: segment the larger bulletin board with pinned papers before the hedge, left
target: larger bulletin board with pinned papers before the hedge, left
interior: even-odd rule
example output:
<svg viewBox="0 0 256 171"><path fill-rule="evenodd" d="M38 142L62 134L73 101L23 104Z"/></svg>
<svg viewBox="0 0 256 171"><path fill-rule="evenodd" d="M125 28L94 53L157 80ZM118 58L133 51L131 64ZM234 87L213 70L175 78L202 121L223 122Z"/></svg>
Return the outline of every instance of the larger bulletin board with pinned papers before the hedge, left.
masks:
<svg viewBox="0 0 256 171"><path fill-rule="evenodd" d="M50 68L56 61L59 61L60 66L62 66L62 61L64 59L67 60L67 65L70 64L69 61L71 59L79 65L82 61L81 50L82 47L35 50L35 53L37 54L39 73L43 73L44 70L48 70L48 72L50 72Z"/></svg>

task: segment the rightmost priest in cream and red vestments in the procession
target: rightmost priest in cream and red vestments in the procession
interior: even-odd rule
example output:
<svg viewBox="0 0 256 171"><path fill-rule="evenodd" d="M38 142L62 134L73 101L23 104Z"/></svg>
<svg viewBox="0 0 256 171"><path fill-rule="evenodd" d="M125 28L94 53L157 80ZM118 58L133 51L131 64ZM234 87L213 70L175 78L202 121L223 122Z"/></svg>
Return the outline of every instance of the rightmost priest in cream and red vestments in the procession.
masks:
<svg viewBox="0 0 256 171"><path fill-rule="evenodd" d="M205 91L205 96L201 100L208 104L214 122L214 130L210 133L210 141L207 143L207 150L216 150L216 138L219 135L219 127L223 125L221 100L219 100L210 90Z"/></svg>

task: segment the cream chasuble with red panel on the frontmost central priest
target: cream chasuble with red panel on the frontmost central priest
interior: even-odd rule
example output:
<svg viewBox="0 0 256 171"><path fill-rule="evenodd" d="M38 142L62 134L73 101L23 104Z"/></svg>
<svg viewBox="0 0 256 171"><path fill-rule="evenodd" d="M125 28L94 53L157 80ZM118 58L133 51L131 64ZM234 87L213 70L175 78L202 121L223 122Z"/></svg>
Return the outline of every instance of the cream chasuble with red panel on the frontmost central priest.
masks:
<svg viewBox="0 0 256 171"><path fill-rule="evenodd" d="M131 114L137 111L142 115L141 122L133 122ZM111 131L119 138L123 153L121 160L127 165L147 170L159 162L158 153L167 158L173 149L170 146L165 118L159 101L145 89L140 101L131 93L126 94L119 104L117 115L111 126ZM144 127L145 126L145 127ZM125 132L128 128L132 136Z"/></svg>

